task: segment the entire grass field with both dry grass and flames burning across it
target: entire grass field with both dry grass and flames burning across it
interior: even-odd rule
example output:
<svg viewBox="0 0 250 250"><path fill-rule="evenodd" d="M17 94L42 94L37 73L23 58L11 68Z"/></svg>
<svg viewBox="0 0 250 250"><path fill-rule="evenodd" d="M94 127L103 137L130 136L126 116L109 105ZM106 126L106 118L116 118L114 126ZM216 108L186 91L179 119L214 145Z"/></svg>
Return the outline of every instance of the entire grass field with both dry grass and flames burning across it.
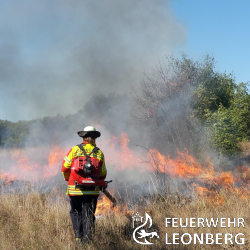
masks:
<svg viewBox="0 0 250 250"><path fill-rule="evenodd" d="M128 141L127 135L122 134L121 138L114 138L113 144L108 143L110 150L105 153L106 163L107 166L113 164L115 166L113 172L120 171L119 176L124 176L124 180L125 170L133 170L133 173L137 173L137 175L134 174L136 179L140 176L140 185L143 184L143 187L138 188L139 184L133 186L133 183L129 183L130 189L124 191L123 186L119 184L115 186L119 205L114 209L104 196L99 200L96 212L96 234L93 242L85 246L85 249L145 249L145 246L137 244L132 238L133 229L130 220L137 211L141 215L145 212L150 214L154 223L152 228L158 230L160 236L153 247L146 246L148 249L226 249L229 247L248 249L250 246L248 240L250 168L248 165L223 172L219 168L215 169L209 160L201 165L188 154L187 150L178 152L176 158L162 155L157 149L145 151L143 155L143 153L131 151L128 148ZM105 147L101 146L101 148ZM69 201L65 195L61 195L56 189L52 189L46 196L32 191L36 183L43 183L43 186L50 183L51 178L58 173L65 153L58 146L53 146L51 149L0 151L0 190L2 192L0 195L2 225L0 249L75 249ZM146 159L144 163L141 162L141 156ZM146 177L151 183L144 182L142 178L146 171ZM129 177L132 177L131 174ZM126 187L125 184L123 183L124 187ZM21 187L25 188L21 190ZM14 194L6 190L14 190ZM16 190L19 192L17 193ZM240 228L240 231L239 228L165 228L165 218L173 217L184 220L185 218L244 218L246 228ZM233 235L240 232L245 235L245 244L210 246L190 244L185 247L165 244L166 233L172 235L185 232ZM169 240L171 241L171 237Z"/></svg>

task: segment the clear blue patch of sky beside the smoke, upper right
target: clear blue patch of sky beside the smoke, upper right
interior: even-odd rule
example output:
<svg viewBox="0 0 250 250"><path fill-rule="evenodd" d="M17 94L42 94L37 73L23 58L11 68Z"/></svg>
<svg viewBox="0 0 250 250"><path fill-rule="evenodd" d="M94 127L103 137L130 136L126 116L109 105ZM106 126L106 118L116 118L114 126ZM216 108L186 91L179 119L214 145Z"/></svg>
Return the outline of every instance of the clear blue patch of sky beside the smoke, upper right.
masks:
<svg viewBox="0 0 250 250"><path fill-rule="evenodd" d="M211 54L218 71L250 81L250 1L175 0L172 7L188 36L183 52L197 60Z"/></svg>

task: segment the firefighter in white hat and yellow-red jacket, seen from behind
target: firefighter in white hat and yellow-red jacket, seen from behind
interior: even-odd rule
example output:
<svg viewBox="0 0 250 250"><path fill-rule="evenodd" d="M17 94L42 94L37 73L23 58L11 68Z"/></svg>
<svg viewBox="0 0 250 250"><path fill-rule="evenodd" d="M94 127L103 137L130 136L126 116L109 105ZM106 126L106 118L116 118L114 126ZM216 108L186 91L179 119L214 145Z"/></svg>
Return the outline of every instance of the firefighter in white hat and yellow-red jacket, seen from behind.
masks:
<svg viewBox="0 0 250 250"><path fill-rule="evenodd" d="M107 170L104 155L96 147L95 143L96 138L100 137L101 133L96 131L93 126L87 126L83 131L79 131L78 135L83 138L83 142L80 145L72 147L65 156L62 164L62 174L64 180L68 181L66 195L70 197L70 217L76 242L77 244L82 244L88 243L92 239L95 223L94 214L100 189L100 186L95 186L94 184L97 183L95 181L105 183L103 180L106 178ZM81 171L85 171L86 166L92 165L92 174L88 168L86 170L88 174L84 175L81 174L83 172L76 172L80 159L83 159L84 161L82 162L85 163ZM86 177L86 175L86 181L82 181L85 179L81 178ZM90 184L87 186L81 185L81 183L85 182ZM94 184L91 185L91 183Z"/></svg>

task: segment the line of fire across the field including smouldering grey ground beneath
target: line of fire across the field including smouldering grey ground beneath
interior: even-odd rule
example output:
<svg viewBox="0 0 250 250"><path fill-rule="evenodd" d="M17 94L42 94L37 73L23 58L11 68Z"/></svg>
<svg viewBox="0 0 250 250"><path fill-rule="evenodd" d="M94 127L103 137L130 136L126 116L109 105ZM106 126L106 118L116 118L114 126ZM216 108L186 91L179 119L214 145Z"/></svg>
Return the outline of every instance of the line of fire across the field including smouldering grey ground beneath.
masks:
<svg viewBox="0 0 250 250"><path fill-rule="evenodd" d="M178 194L180 203L192 202L195 197L202 196L214 206L225 202L220 194L222 189L237 194L241 199L249 197L250 168L247 165L236 166L233 171L220 171L215 170L210 159L201 165L188 150L178 151L177 157L172 158L157 149L136 151L135 146L130 148L128 143L128 135L122 133L120 137L113 137L100 145L105 149L109 175L120 174L125 179L129 172L134 179L110 184L109 192L117 199L118 206L114 208L112 202L101 195L96 215L115 211L116 215L126 213L131 218L129 214L137 198L155 192L172 196ZM51 149L14 149L9 155L5 152L9 166L0 170L1 192L38 189L47 194L57 190L57 195L64 197L65 184L58 184L57 180L61 179L60 167L66 149L53 145ZM48 183L55 185L49 187Z"/></svg>

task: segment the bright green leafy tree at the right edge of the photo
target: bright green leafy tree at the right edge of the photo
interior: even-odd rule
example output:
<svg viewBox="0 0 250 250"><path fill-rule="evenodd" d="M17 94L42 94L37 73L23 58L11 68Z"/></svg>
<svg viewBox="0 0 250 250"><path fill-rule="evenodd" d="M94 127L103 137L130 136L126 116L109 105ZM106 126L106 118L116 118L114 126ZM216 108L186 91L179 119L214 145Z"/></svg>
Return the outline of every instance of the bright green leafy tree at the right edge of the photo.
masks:
<svg viewBox="0 0 250 250"><path fill-rule="evenodd" d="M228 107L219 105L217 111L207 114L212 144L220 153L234 155L240 152L239 142L250 139L250 95L247 84L235 86Z"/></svg>

